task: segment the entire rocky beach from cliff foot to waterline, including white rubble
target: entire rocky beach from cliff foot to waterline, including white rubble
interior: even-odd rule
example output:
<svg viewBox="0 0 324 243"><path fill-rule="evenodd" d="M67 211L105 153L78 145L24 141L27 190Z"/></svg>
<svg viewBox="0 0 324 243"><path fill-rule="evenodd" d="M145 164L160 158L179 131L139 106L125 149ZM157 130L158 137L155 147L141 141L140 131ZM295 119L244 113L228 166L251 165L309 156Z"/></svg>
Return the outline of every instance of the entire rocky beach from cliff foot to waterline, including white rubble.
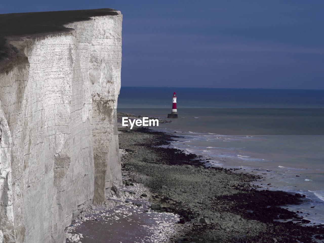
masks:
<svg viewBox="0 0 324 243"><path fill-rule="evenodd" d="M123 187L75 218L67 242L324 242L323 225L284 208L303 195L263 190L253 184L260 176L160 147L175 136L120 127Z"/></svg>

